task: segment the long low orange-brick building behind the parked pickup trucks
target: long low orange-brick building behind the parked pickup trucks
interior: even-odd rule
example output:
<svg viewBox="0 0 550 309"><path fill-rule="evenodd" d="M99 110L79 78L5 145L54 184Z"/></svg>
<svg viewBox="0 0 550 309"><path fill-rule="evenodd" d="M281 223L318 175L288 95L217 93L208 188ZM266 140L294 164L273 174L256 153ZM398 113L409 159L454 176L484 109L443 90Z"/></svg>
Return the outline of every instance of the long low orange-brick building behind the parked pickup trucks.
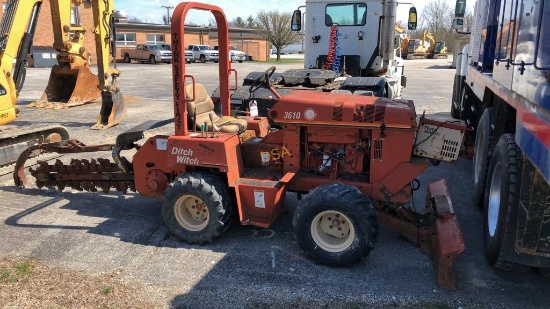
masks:
<svg viewBox="0 0 550 309"><path fill-rule="evenodd" d="M2 1L0 8L3 14L6 6L5 0ZM24 0L20 0L24 1ZM84 0L80 6L82 25L87 27L84 35L84 46L92 55L92 63L96 63L95 41L91 32L93 28L92 3L90 0ZM75 16L76 10L72 9L72 16ZM124 16L117 15L116 21L116 45L117 61L122 61L120 49L133 47L136 44L144 43L171 43L170 25L131 23ZM51 23L50 1L44 0L40 9L36 33L34 35L33 50L51 50L53 49L53 27ZM185 27L184 43L206 44L210 46L218 45L218 34L215 27ZM270 43L255 34L251 29L229 29L230 45L242 50L253 60L267 61L269 59Z"/></svg>

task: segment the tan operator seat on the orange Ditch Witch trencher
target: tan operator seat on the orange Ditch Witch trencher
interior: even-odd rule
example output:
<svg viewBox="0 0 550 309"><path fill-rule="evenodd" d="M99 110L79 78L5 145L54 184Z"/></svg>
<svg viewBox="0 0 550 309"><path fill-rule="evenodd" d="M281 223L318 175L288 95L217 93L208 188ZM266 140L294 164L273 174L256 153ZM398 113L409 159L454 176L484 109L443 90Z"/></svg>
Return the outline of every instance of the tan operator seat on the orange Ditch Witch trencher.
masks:
<svg viewBox="0 0 550 309"><path fill-rule="evenodd" d="M188 100L192 99L193 84L185 86L185 93ZM214 102L208 95L206 88L202 84L195 83L195 100L187 101L187 113L191 121L195 121L197 128L206 123L207 131L212 131L212 124L220 132L241 134L246 130L247 122L245 119L237 119L231 116L222 116L221 118L214 112ZM210 116L212 115L212 121ZM196 119L195 119L196 117Z"/></svg>

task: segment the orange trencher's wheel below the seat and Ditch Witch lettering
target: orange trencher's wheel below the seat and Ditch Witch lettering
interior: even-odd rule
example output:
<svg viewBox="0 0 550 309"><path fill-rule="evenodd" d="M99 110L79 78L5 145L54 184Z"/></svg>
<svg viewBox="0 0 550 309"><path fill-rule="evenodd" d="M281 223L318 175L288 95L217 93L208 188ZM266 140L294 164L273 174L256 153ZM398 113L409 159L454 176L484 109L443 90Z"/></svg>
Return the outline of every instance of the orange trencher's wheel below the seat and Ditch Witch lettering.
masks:
<svg viewBox="0 0 550 309"><path fill-rule="evenodd" d="M172 182L164 197L162 217L178 240L211 243L229 227L233 198L227 185L214 175L184 174Z"/></svg>

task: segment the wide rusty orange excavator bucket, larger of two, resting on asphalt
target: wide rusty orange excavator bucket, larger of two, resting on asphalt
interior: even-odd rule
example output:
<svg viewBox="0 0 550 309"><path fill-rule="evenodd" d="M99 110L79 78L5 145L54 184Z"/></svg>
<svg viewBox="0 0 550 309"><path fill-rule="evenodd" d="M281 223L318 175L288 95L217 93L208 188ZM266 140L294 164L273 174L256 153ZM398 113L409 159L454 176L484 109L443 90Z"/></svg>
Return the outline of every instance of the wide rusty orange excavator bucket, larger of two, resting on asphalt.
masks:
<svg viewBox="0 0 550 309"><path fill-rule="evenodd" d="M28 107L63 109L94 101L100 94L98 77L88 65L55 65L42 97Z"/></svg>

